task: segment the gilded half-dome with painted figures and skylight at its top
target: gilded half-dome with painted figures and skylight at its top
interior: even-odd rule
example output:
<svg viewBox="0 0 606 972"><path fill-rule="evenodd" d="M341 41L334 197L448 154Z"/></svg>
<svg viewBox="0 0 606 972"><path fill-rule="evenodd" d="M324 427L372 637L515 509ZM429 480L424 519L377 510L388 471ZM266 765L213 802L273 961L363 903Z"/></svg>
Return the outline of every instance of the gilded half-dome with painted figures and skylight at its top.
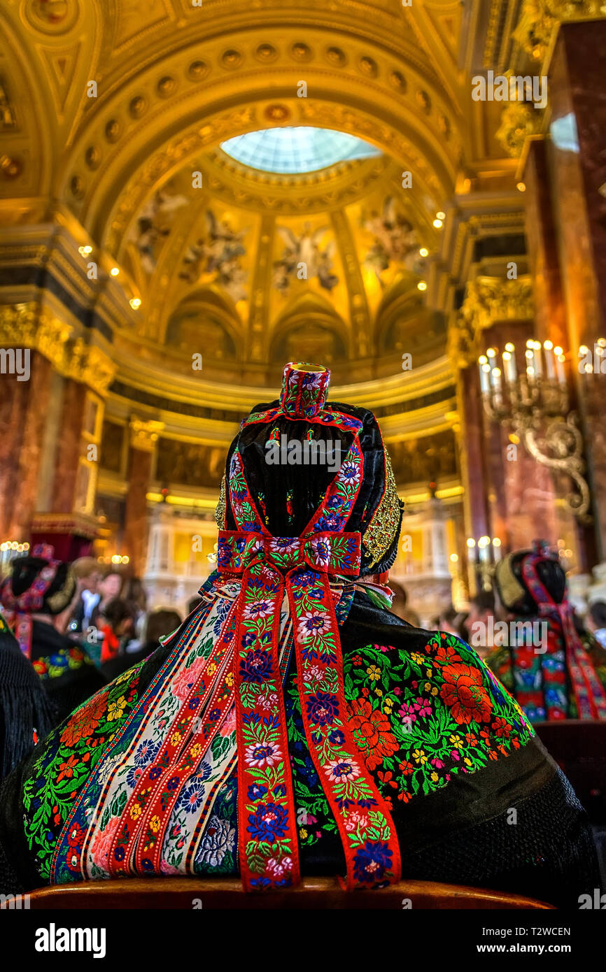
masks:
<svg viewBox="0 0 606 972"><path fill-rule="evenodd" d="M141 299L140 335L219 370L305 358L344 377L351 362L384 359L393 373L403 353L437 357L444 322L419 289L436 212L402 181L370 143L315 127L195 156L133 213L117 247Z"/></svg>

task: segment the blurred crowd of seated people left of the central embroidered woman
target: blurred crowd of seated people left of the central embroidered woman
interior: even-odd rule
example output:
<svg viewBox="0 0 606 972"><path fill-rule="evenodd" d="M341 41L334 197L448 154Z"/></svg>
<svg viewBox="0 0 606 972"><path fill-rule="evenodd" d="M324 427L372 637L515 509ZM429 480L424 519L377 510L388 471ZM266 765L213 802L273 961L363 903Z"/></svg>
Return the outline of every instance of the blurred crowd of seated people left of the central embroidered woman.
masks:
<svg viewBox="0 0 606 972"><path fill-rule="evenodd" d="M138 577L92 557L57 561L46 545L12 562L0 611L0 779L183 620L172 608L148 610Z"/></svg>

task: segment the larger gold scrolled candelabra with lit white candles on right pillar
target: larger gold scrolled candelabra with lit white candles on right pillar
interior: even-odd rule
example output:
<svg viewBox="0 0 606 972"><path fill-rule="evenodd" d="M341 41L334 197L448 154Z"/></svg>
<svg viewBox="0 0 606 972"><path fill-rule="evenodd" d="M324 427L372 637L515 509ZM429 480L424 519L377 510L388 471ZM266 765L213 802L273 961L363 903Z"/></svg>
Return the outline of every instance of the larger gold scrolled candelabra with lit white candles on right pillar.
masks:
<svg viewBox="0 0 606 972"><path fill-rule="evenodd" d="M564 354L552 341L526 341L525 369L517 372L516 347L488 348L479 359L481 399L491 420L513 429L542 466L564 473L572 488L564 498L581 522L588 521L589 487L584 472L579 417L570 411Z"/></svg>

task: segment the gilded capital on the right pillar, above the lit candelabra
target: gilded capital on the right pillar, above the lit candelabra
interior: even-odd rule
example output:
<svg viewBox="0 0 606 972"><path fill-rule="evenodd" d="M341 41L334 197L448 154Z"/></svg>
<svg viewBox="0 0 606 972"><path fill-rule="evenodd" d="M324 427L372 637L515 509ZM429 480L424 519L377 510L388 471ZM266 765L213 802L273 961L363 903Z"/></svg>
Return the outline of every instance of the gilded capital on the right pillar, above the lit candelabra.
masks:
<svg viewBox="0 0 606 972"><path fill-rule="evenodd" d="M467 285L465 299L448 329L448 358L454 367L468 367L478 357L482 330L500 321L529 321L533 318L530 275L517 280L477 277Z"/></svg>

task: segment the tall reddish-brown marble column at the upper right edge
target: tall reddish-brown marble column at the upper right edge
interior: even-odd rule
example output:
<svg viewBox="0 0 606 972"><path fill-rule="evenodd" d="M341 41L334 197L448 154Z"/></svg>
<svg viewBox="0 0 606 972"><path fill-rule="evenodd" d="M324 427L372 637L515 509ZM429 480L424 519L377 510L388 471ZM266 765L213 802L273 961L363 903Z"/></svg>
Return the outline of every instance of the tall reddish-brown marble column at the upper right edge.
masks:
<svg viewBox="0 0 606 972"><path fill-rule="evenodd" d="M583 420L595 543L606 558L606 376L578 349L606 337L606 21L560 27L549 72L549 166L569 355Z"/></svg>

